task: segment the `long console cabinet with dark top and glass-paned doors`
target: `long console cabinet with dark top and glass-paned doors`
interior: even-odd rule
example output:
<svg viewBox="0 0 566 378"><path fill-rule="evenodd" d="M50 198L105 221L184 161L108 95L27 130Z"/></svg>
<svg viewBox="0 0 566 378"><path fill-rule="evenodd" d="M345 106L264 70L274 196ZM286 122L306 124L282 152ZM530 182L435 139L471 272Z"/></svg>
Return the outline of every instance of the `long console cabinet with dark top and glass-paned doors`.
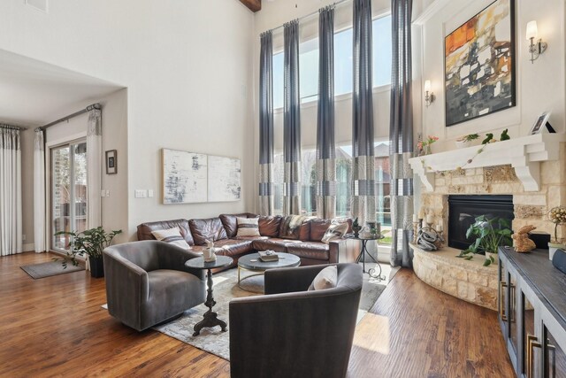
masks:
<svg viewBox="0 0 566 378"><path fill-rule="evenodd" d="M499 258L499 322L516 375L566 378L566 274L547 250L500 248Z"/></svg>

